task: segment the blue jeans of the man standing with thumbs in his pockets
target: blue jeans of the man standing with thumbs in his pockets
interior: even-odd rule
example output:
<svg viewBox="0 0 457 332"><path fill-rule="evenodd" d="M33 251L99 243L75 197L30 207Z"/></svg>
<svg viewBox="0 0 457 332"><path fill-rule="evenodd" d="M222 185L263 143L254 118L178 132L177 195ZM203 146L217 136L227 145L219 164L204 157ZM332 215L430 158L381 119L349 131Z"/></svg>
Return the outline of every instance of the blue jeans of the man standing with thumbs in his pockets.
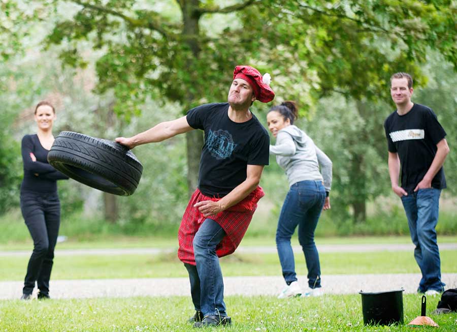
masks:
<svg viewBox="0 0 457 332"><path fill-rule="evenodd" d="M402 197L409 232L416 246L414 258L422 273L417 290L422 293L429 289L443 291L445 285L441 282L440 253L435 230L440 194L441 190L428 188Z"/></svg>

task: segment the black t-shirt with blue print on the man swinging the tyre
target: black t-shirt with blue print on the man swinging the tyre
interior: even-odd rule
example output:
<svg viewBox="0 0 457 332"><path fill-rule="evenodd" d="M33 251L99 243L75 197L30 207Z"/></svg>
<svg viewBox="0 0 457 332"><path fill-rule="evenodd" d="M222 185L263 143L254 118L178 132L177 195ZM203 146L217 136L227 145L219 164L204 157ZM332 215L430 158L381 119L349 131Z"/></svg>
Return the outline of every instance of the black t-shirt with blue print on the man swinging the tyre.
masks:
<svg viewBox="0 0 457 332"><path fill-rule="evenodd" d="M247 122L228 117L228 103L205 104L187 112L187 123L205 131L199 189L223 197L246 179L247 165L268 165L270 137L252 114Z"/></svg>

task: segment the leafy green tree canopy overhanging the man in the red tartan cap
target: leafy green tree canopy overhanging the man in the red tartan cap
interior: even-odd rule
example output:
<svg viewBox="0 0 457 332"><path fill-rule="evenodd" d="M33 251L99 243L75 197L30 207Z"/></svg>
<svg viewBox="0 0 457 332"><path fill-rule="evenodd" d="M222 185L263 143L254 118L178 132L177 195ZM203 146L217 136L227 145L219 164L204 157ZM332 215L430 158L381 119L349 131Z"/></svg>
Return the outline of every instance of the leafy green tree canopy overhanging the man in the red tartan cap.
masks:
<svg viewBox="0 0 457 332"><path fill-rule="evenodd" d="M186 107L223 100L239 63L272 71L279 97L300 100L305 110L334 90L356 99L387 98L388 78L400 70L423 81L417 65L425 62L429 46L457 64L456 9L450 2L407 1L400 7L380 0L270 0L225 8L201 1L179 7L166 1L158 7L74 3L73 14L56 22L47 44L67 44L61 58L72 66L81 64L78 41L105 49L97 61L98 88L114 88L121 103L132 103L119 109L122 114L157 93ZM213 17L217 24L200 24Z"/></svg>

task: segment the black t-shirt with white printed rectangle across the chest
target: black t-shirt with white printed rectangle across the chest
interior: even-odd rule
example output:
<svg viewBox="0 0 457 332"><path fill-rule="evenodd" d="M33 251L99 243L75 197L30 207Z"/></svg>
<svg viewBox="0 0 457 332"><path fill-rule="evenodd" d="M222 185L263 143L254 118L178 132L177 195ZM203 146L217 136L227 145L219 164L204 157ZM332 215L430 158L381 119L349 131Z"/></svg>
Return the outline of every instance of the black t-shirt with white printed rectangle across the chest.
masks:
<svg viewBox="0 0 457 332"><path fill-rule="evenodd" d="M384 122L384 129L389 152L398 153L400 158L402 188L411 193L432 165L436 144L446 132L435 113L419 104L414 104L404 115L397 111L391 113ZM442 167L433 178L432 187L446 188Z"/></svg>

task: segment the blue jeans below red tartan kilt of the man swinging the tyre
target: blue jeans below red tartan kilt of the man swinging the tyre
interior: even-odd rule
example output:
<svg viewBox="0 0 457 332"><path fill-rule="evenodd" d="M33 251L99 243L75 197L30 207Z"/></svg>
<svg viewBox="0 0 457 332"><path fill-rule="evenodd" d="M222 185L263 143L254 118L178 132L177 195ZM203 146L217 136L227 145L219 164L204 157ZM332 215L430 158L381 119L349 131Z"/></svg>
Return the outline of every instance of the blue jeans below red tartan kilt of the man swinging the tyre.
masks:
<svg viewBox="0 0 457 332"><path fill-rule="evenodd" d="M225 231L212 219L205 219L193 238L195 265L184 263L190 279L190 294L196 311L203 316L226 316L224 283L216 246Z"/></svg>

